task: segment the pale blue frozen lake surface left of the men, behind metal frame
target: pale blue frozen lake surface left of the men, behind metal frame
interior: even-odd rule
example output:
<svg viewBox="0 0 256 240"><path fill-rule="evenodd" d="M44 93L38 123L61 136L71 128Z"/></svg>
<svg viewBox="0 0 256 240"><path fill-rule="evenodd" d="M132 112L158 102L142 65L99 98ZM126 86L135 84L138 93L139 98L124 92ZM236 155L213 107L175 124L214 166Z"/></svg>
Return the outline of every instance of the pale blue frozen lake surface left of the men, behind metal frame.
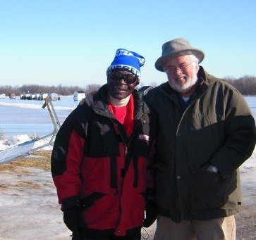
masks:
<svg viewBox="0 0 256 240"><path fill-rule="evenodd" d="M59 101L52 101L61 124L78 105L73 96L62 96ZM19 134L44 136L54 130L47 108L42 108L44 101L0 99L0 133L5 137Z"/></svg>

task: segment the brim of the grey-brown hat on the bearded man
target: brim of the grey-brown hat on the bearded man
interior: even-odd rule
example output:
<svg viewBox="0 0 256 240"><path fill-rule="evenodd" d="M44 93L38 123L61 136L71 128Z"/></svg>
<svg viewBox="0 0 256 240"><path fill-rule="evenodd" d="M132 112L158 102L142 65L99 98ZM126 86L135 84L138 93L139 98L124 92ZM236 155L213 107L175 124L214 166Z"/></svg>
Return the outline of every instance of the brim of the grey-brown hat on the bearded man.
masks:
<svg viewBox="0 0 256 240"><path fill-rule="evenodd" d="M166 54L164 56L161 56L160 58L157 59L154 66L155 66L155 68L157 68L157 70L164 72L164 63L166 63L166 61L169 61L178 56L185 56L185 55L194 55L195 57L197 57L199 63L201 63L203 61L203 59L205 58L205 54L200 50L185 49L183 51L176 51L176 52L172 52L172 53Z"/></svg>

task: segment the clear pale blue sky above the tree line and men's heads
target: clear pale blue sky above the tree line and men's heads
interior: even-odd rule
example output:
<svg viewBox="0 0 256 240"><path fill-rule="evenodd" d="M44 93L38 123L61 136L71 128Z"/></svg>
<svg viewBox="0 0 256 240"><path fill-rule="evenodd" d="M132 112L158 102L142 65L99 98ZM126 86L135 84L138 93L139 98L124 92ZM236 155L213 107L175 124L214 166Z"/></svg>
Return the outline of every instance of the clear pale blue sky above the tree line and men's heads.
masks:
<svg viewBox="0 0 256 240"><path fill-rule="evenodd" d="M256 76L256 1L0 0L0 85L104 84L116 49L145 57L142 84L164 42L188 39L216 77Z"/></svg>

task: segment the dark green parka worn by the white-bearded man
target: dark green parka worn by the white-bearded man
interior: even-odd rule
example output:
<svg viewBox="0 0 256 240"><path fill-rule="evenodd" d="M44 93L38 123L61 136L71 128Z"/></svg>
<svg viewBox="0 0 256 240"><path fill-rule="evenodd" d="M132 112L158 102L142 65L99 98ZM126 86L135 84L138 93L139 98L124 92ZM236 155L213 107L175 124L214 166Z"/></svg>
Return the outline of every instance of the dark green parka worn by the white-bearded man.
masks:
<svg viewBox="0 0 256 240"><path fill-rule="evenodd" d="M197 75L200 84L186 108L168 82L145 96L157 121L159 215L175 222L238 213L238 168L255 148L255 120L243 96L202 67ZM208 172L209 165L219 172Z"/></svg>

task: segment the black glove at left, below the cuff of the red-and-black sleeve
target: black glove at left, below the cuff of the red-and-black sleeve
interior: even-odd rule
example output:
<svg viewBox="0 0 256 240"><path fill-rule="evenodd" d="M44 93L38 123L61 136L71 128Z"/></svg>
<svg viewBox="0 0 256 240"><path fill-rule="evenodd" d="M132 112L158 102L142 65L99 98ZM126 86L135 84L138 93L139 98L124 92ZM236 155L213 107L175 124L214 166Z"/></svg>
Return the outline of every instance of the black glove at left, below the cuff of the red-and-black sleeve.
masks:
<svg viewBox="0 0 256 240"><path fill-rule="evenodd" d="M63 200L63 221L72 232L78 231L80 224L80 208L78 197Z"/></svg>

